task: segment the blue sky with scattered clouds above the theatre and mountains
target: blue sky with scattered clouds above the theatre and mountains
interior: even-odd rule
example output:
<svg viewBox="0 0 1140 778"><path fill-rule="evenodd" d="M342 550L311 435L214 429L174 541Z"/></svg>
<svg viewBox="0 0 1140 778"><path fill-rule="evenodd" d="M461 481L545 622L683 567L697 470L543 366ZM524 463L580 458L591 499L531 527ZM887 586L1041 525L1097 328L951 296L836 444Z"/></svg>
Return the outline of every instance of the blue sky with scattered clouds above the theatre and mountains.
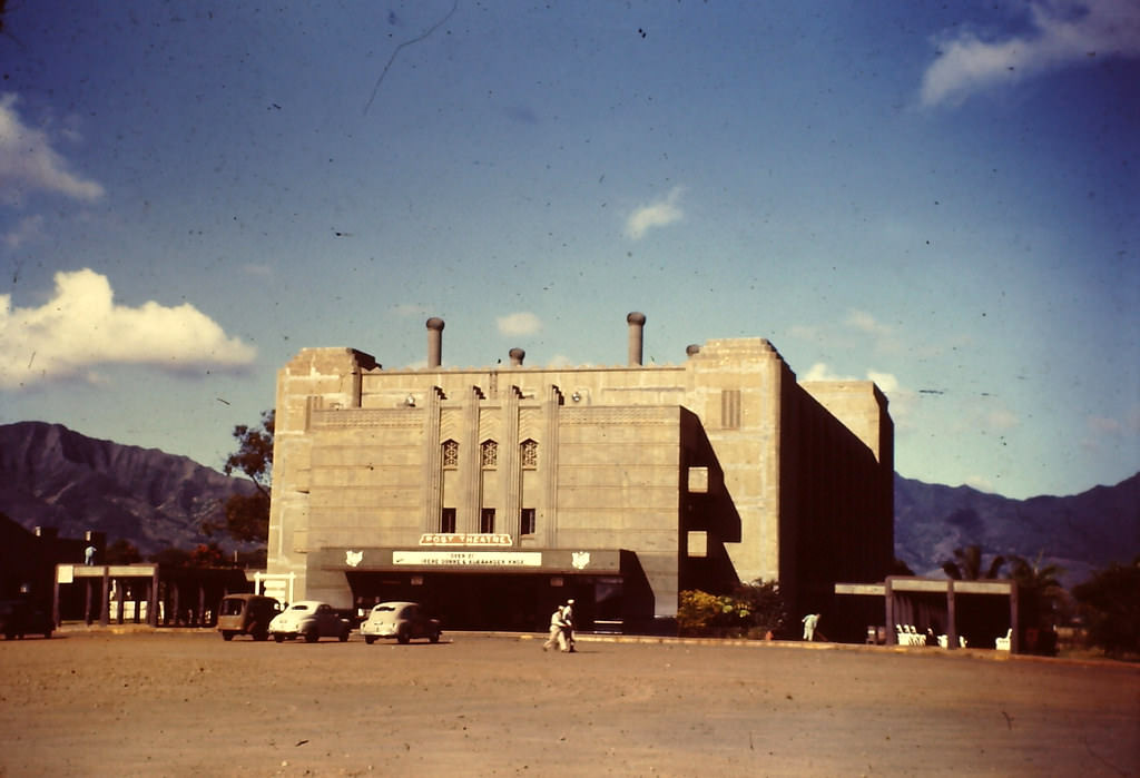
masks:
<svg viewBox="0 0 1140 778"><path fill-rule="evenodd" d="M303 346L769 338L896 469L1140 469L1140 7L9 3L0 423L220 467Z"/></svg>

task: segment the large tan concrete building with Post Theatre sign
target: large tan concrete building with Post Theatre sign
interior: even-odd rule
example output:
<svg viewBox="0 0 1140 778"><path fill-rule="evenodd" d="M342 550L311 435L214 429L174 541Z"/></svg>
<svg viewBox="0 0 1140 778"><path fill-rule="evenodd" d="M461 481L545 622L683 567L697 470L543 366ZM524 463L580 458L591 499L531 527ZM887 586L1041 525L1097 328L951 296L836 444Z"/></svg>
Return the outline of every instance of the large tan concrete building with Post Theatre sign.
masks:
<svg viewBox="0 0 1140 778"><path fill-rule="evenodd" d="M870 382L798 383L763 338L643 365L424 368L303 349L277 377L278 596L410 599L454 628L668 624L684 589L777 580L791 613L894 558L894 426ZM284 581L288 581L285 589Z"/></svg>

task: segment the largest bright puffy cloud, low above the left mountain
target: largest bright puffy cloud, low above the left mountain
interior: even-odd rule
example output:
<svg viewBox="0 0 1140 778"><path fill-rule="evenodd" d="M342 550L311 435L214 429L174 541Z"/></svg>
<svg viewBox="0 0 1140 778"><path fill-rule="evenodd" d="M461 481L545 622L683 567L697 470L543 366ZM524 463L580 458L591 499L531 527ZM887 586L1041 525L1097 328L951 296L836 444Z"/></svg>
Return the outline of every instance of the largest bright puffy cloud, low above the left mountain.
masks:
<svg viewBox="0 0 1140 778"><path fill-rule="evenodd" d="M90 269L58 272L55 281L55 295L40 308L13 309L11 295L0 295L0 388L96 383L100 365L233 369L256 355L188 303L116 305L106 276Z"/></svg>

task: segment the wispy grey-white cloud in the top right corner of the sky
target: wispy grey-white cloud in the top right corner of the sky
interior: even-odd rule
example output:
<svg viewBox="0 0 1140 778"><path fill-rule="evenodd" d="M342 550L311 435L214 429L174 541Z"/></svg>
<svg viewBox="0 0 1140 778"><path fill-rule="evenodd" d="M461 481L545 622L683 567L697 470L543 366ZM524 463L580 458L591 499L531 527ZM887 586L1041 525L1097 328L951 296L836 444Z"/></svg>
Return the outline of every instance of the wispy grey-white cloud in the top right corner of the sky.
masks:
<svg viewBox="0 0 1140 778"><path fill-rule="evenodd" d="M922 76L926 106L958 104L993 87L1099 57L1140 56L1140 3L1135 0L1056 0L1029 6L1032 31L1004 40L959 33L938 43Z"/></svg>

